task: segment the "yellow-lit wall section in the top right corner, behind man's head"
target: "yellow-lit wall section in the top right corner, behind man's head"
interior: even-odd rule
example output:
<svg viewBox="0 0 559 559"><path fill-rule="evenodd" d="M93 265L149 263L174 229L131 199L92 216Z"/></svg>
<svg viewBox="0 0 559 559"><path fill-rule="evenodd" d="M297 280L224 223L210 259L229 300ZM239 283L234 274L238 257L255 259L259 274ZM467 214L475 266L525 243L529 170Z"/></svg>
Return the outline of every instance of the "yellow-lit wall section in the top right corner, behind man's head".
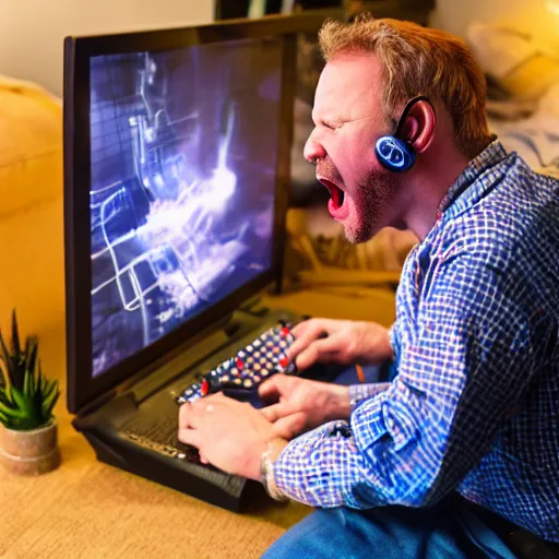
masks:
<svg viewBox="0 0 559 559"><path fill-rule="evenodd" d="M473 21L511 24L544 41L559 40L559 14L551 13L548 2L559 0L437 0L431 25L466 36Z"/></svg>

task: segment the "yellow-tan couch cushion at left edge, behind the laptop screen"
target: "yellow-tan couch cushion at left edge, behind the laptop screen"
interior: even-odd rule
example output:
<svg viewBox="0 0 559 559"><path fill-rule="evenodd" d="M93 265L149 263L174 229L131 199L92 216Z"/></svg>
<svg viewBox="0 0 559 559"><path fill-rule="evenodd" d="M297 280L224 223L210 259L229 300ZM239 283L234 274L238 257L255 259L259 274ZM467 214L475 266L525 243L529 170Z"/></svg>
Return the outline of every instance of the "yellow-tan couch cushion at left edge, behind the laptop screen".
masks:
<svg viewBox="0 0 559 559"><path fill-rule="evenodd" d="M0 75L0 216L62 198L62 105Z"/></svg>

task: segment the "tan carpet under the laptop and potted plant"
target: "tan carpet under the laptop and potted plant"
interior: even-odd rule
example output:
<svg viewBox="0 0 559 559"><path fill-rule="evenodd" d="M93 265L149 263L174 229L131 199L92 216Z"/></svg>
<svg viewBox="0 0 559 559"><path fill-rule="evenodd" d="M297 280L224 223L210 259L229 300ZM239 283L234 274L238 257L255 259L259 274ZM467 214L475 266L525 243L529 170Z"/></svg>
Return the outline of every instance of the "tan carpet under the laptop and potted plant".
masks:
<svg viewBox="0 0 559 559"><path fill-rule="evenodd" d="M359 295L360 294L360 295ZM314 316L390 323L393 301L297 293L271 301ZM44 370L64 389L61 332L41 341ZM57 373L58 372L58 373ZM97 462L73 430L63 399L56 408L61 466L37 478L0 469L0 557L7 559L257 558L310 509L299 503L231 513Z"/></svg>

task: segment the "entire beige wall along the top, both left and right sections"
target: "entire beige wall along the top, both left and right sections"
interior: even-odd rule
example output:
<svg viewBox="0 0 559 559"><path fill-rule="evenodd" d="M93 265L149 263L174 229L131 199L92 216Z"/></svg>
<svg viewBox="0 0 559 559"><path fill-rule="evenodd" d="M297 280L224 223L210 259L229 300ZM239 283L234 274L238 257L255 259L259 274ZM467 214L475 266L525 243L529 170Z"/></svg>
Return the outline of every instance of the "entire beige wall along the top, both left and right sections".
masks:
<svg viewBox="0 0 559 559"><path fill-rule="evenodd" d="M0 74L60 95L64 36L203 23L213 14L214 0L0 0ZM465 36L474 20L559 37L559 15L549 14L546 0L437 0L431 24Z"/></svg>

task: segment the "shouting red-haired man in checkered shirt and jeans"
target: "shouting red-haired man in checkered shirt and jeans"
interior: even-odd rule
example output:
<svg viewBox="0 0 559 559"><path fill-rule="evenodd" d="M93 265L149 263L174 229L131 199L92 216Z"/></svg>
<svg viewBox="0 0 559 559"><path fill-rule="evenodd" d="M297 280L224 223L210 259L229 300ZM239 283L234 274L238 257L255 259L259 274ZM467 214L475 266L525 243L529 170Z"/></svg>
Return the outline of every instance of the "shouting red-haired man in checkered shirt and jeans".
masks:
<svg viewBox="0 0 559 559"><path fill-rule="evenodd" d="M260 393L278 403L204 399L181 409L179 438L319 509L269 557L559 554L559 183L489 135L484 78L456 38L359 17L320 43L305 157L331 214L354 242L389 225L420 242L390 331L309 320L290 356L389 359L390 382L276 376ZM416 156L404 173L374 150L395 131Z"/></svg>

